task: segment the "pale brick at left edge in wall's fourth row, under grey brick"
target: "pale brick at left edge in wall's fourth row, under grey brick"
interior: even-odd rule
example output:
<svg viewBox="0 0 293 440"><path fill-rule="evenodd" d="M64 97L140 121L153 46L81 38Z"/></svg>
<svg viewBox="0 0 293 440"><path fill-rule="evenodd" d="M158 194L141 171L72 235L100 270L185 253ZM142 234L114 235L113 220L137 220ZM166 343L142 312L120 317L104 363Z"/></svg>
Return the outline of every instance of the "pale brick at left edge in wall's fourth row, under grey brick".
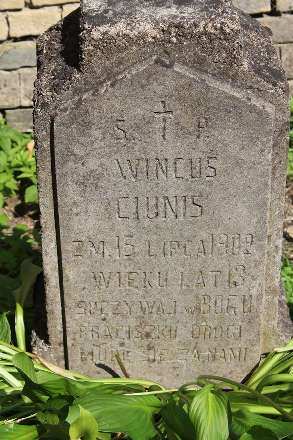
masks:
<svg viewBox="0 0 293 440"><path fill-rule="evenodd" d="M0 71L0 107L11 109L20 105L20 81L17 72Z"/></svg>

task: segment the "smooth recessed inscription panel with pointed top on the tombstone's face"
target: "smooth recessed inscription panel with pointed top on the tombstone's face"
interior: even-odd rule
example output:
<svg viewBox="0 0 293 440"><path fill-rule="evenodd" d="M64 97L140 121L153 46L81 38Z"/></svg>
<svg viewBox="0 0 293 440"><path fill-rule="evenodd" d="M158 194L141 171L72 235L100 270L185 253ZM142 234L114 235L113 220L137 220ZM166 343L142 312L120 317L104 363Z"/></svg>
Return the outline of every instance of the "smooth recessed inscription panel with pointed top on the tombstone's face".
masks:
<svg viewBox="0 0 293 440"><path fill-rule="evenodd" d="M69 364L103 377L118 352L132 377L174 372L172 387L239 379L260 354L270 118L251 92L146 65L56 122ZM70 112L86 127L72 156Z"/></svg>

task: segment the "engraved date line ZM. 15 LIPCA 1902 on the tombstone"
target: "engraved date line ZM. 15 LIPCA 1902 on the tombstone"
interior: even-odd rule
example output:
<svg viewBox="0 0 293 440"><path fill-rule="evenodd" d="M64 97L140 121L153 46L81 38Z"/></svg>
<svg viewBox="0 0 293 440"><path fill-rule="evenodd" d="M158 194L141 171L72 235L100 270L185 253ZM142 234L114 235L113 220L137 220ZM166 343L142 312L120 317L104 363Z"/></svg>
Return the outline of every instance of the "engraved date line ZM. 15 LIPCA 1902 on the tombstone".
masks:
<svg viewBox="0 0 293 440"><path fill-rule="evenodd" d="M206 237L158 240L138 235L122 235L91 240L73 240L72 257L89 260L131 259L207 259L244 257L254 254L253 234L209 234Z"/></svg>

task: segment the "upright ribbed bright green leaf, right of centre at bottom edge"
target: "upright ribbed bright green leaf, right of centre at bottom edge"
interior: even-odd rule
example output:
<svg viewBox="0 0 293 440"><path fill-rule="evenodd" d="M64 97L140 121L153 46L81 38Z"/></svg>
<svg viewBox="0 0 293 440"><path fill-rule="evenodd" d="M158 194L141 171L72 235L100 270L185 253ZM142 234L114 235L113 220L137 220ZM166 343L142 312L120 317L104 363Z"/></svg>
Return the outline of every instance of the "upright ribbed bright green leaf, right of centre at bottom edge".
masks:
<svg viewBox="0 0 293 440"><path fill-rule="evenodd" d="M227 440L231 424L231 408L227 396L206 385L194 397L190 420L200 440Z"/></svg>

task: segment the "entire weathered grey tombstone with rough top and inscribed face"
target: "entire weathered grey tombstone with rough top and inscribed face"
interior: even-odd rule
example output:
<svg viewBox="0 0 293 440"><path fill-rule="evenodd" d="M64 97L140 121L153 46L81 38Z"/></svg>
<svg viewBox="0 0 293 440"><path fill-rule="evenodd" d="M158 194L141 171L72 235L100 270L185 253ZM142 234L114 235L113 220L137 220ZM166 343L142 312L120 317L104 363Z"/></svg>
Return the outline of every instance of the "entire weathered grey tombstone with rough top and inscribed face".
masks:
<svg viewBox="0 0 293 440"><path fill-rule="evenodd" d="M96 377L121 374L118 352L167 386L242 379L283 342L289 91L271 31L228 0L83 0L37 48L35 351Z"/></svg>

